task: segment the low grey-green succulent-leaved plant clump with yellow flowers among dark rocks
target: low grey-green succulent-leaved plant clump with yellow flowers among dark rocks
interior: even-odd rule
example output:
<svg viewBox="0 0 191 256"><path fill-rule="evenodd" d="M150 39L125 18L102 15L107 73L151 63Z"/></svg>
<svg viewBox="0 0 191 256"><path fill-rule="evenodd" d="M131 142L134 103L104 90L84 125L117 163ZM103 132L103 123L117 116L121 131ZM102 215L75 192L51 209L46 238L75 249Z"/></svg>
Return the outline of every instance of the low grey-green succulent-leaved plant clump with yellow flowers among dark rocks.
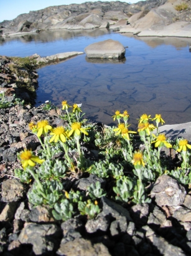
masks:
<svg viewBox="0 0 191 256"><path fill-rule="evenodd" d="M54 106L47 102L45 107ZM19 152L22 169L16 169L15 175L32 185L27 197L34 207L49 205L55 220L79 214L90 219L101 212L103 196L124 206L151 202L151 186L163 174L190 189L191 145L186 139L172 141L159 133L159 124L164 124L161 114L153 118L142 114L137 132L130 129L126 110L114 113L117 127L98 126L83 116L82 104L72 107L62 101L64 126L52 127L47 120L30 122L41 149L37 154L30 149ZM174 150L177 159L167 156L165 149ZM91 154L94 150L97 158ZM106 185L97 180L86 191L69 185L70 180L91 174Z"/></svg>

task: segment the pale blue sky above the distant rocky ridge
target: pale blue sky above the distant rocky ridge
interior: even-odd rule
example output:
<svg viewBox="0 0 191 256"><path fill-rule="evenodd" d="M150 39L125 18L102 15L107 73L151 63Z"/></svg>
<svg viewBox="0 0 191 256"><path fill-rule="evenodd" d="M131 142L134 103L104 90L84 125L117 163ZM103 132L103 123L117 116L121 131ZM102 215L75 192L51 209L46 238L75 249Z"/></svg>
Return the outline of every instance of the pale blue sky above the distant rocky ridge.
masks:
<svg viewBox="0 0 191 256"><path fill-rule="evenodd" d="M16 18L19 14L37 11L49 6L62 4L82 4L82 2L98 0L0 0L0 22ZM107 1L107 0L104 0ZM114 1L114 0L112 0ZM121 2L139 2L141 0L121 0Z"/></svg>

